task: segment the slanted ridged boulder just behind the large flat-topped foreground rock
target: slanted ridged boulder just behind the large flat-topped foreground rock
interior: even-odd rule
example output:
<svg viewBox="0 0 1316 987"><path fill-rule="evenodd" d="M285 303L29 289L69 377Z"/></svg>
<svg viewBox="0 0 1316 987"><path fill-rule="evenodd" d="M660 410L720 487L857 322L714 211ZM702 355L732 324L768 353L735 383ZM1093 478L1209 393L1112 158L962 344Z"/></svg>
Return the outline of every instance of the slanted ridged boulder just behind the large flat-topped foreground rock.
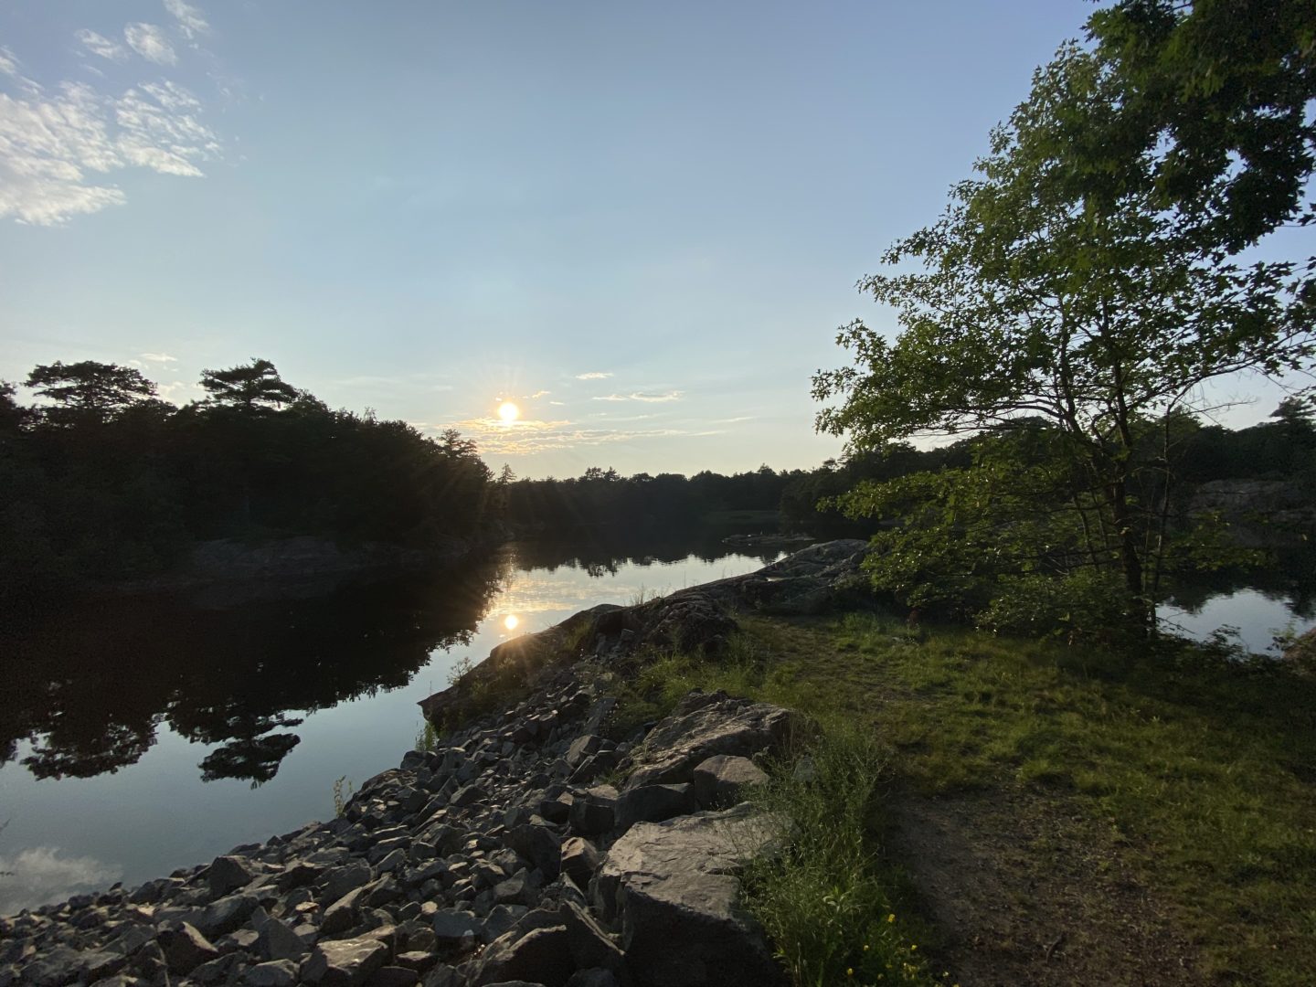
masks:
<svg viewBox="0 0 1316 987"><path fill-rule="evenodd" d="M782 707L732 699L725 692L692 692L676 704L633 754L637 765L626 790L688 782L696 765L715 754L749 757L783 747L803 726Z"/></svg>

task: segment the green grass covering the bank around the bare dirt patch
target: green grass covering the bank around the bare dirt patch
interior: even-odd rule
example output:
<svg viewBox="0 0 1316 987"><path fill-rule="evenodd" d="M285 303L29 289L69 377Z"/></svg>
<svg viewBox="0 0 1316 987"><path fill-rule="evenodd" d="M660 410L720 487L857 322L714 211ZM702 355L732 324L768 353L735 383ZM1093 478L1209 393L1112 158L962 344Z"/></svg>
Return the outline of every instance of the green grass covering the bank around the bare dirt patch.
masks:
<svg viewBox="0 0 1316 987"><path fill-rule="evenodd" d="M912 633L871 615L741 622L716 662L666 655L619 676L617 728L661 716L695 687L813 713L825 737L850 724L878 745L894 790L1037 795L1155 890L1205 976L1298 984L1316 970L1309 676L1173 642L1115 653ZM815 908L800 913L816 921ZM845 942L837 955L850 955Z"/></svg>

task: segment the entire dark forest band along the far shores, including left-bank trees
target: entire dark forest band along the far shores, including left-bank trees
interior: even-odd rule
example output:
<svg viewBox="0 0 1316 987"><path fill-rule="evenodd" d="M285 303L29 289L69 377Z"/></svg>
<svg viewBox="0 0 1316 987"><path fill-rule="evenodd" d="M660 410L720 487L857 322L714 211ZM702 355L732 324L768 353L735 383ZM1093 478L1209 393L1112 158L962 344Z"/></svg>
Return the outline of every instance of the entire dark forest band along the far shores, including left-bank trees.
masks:
<svg viewBox="0 0 1316 987"><path fill-rule="evenodd" d="M159 400L138 370L93 361L36 367L30 405L0 384L0 588L149 576L216 538L309 534L449 551L576 526L634 536L778 521L866 536L880 519L848 520L828 499L863 480L965 467L983 442L1009 441L1026 457L1019 437L1042 430L1024 420L998 436L930 450L894 443L815 470L622 476L591 467L517 479L491 471L457 432L429 437L372 412L333 411L265 359L205 370L200 383L205 400L182 408ZM1316 426L1294 401L1252 428L1184 418L1179 433L1186 492L1224 478L1316 483Z"/></svg>

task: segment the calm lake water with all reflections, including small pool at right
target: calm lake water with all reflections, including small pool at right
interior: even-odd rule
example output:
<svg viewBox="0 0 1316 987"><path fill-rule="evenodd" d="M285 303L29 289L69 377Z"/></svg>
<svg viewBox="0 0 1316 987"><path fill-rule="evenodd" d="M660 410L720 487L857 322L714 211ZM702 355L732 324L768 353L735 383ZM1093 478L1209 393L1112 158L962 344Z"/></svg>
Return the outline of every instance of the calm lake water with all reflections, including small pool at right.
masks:
<svg viewBox="0 0 1316 987"><path fill-rule="evenodd" d="M397 765L416 703L465 657L597 603L779 557L721 533L617 546L505 545L457 569L336 590L242 587L87 600L4 644L0 913L205 862L333 813L333 784ZM1213 586L1162 609L1195 636L1313 622L1291 588ZM1295 613L1300 616L1295 616Z"/></svg>

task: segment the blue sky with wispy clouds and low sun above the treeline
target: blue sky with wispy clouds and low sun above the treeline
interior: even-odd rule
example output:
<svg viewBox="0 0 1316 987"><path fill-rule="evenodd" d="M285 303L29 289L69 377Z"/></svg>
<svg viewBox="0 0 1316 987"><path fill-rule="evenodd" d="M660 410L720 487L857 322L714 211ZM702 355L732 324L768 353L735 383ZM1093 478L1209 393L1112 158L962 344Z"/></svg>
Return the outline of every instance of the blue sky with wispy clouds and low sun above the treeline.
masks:
<svg viewBox="0 0 1316 987"><path fill-rule="evenodd" d="M813 467L855 282L1092 9L5 4L0 379L262 357L522 476Z"/></svg>

